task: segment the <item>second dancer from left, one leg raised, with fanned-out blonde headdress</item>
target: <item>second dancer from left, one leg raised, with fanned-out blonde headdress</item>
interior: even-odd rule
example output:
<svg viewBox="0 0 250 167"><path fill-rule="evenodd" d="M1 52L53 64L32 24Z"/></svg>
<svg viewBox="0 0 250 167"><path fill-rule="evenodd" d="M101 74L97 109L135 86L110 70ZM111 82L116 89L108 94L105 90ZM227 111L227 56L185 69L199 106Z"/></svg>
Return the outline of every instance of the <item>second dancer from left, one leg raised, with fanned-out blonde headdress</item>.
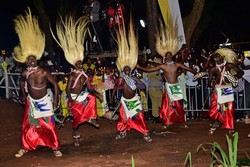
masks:
<svg viewBox="0 0 250 167"><path fill-rule="evenodd" d="M68 106L73 116L74 145L79 146L79 125L88 122L99 128L96 122L96 98L88 92L83 92L88 76L82 68L84 59L84 38L89 20L81 17L77 21L68 16L56 25L57 36L53 35L58 45L63 49L66 60L75 67L67 84ZM53 34L53 33L52 33Z"/></svg>

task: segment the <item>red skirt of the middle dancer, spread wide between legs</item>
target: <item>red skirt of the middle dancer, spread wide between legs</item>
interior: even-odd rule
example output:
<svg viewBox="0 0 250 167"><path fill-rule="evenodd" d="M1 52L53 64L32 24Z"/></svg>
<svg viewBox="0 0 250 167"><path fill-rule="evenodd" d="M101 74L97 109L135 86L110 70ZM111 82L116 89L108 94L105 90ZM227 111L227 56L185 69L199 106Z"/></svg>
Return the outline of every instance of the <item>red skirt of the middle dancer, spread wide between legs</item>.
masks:
<svg viewBox="0 0 250 167"><path fill-rule="evenodd" d="M121 104L119 112L120 112L120 117L116 126L116 129L118 131L123 132L125 130L129 131L130 129L135 129L144 135L148 134L149 130L147 128L147 125L144 119L143 111L139 112L137 116L133 117L133 119L131 118L127 119L124 108Z"/></svg>

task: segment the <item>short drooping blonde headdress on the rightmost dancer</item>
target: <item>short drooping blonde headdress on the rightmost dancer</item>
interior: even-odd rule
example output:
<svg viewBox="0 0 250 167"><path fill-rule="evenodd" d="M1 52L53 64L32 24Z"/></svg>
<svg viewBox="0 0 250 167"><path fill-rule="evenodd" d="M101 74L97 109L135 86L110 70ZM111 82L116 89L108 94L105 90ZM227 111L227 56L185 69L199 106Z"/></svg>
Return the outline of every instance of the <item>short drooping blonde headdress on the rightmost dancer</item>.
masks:
<svg viewBox="0 0 250 167"><path fill-rule="evenodd" d="M236 63L237 62L237 54L228 48L220 48L215 51L215 53L220 54L224 60L228 63Z"/></svg>

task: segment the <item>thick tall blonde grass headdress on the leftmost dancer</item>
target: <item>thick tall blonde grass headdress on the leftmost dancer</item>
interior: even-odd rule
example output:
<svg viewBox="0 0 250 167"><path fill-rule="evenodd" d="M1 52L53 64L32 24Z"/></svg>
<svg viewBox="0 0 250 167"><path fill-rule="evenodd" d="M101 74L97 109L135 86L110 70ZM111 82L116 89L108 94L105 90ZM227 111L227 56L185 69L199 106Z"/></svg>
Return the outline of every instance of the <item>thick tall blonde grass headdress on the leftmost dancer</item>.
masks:
<svg viewBox="0 0 250 167"><path fill-rule="evenodd" d="M25 63L29 56L35 56L39 60L45 48L45 36L39 28L38 20L32 16L30 9L25 16L18 15L14 19L15 31L20 43L14 48L14 59Z"/></svg>

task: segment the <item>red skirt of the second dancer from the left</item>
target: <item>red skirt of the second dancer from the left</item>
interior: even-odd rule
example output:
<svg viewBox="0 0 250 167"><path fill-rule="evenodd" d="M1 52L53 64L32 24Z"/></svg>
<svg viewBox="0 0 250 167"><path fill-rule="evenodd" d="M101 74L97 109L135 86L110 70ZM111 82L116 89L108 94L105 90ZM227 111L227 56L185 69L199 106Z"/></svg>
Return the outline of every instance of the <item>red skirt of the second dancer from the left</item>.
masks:
<svg viewBox="0 0 250 167"><path fill-rule="evenodd" d="M71 106L70 102L69 106ZM79 124L87 122L90 119L96 119L97 110L95 96L88 94L84 103L74 102L70 107L70 111L73 115L73 128L76 128Z"/></svg>

